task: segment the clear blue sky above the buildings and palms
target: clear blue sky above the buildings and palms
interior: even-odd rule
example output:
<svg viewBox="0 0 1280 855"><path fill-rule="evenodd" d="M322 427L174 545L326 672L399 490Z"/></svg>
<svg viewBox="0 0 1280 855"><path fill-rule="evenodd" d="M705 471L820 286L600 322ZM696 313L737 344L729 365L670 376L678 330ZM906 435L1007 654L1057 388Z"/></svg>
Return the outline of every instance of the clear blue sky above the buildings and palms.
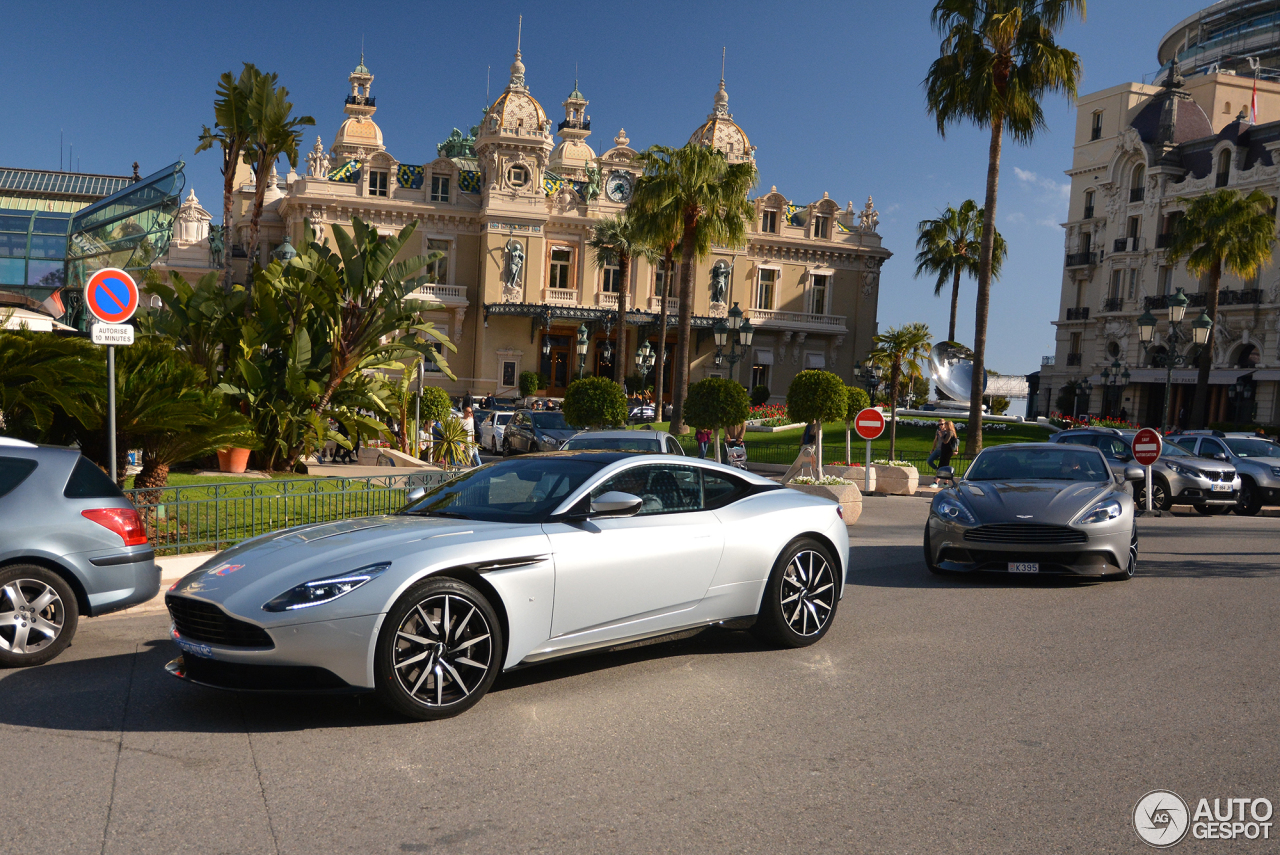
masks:
<svg viewBox="0 0 1280 855"><path fill-rule="evenodd" d="M1082 55L1082 92L1157 70L1160 37L1207 0L1091 3L1061 35ZM187 161L187 187L220 206L216 152L193 155L212 119L218 76L243 61L279 73L308 134L325 145L342 119L347 74L360 58L376 76L376 120L390 152L428 163L453 127L475 124L485 74L507 81L516 18L524 61L549 115L573 86L591 101L596 151L626 127L634 147L682 145L712 108L727 46L730 110L758 146L760 191L777 186L804 205L828 192L860 209L873 196L884 244L881 328L923 320L946 335L948 302L914 279L915 224L965 198L980 201L987 134L938 137L920 81L937 56L927 0L804 4L690 3L58 3L13 4L5 46L9 106L0 165L56 169L59 133L82 172L142 174ZM997 225L1010 244L995 285L987 365L1033 371L1052 352L1062 275L1062 229L1075 110L1046 104L1048 128L1032 146L1006 143ZM64 148L64 163L65 163ZM973 335L970 282L961 285L957 338Z"/></svg>

